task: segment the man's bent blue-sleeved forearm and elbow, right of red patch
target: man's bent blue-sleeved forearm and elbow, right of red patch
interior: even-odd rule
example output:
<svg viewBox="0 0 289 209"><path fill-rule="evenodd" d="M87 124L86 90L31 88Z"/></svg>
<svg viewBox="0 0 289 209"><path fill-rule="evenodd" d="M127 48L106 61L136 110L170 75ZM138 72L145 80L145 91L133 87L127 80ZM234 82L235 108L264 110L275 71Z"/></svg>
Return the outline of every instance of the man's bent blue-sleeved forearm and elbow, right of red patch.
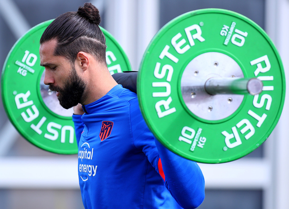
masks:
<svg viewBox="0 0 289 209"><path fill-rule="evenodd" d="M183 208L196 208L205 198L203 173L194 161L184 159L155 140L167 189Z"/></svg>

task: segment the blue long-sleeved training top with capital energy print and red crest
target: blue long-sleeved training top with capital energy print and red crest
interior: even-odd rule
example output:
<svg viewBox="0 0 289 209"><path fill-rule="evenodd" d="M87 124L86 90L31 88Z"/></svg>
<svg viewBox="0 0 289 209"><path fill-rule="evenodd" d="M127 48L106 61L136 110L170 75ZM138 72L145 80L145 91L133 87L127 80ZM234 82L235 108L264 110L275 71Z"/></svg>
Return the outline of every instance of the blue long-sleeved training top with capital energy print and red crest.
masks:
<svg viewBox="0 0 289 209"><path fill-rule="evenodd" d="M203 202L199 166L155 140L135 93L117 85L83 109L73 121L85 209L195 208Z"/></svg>

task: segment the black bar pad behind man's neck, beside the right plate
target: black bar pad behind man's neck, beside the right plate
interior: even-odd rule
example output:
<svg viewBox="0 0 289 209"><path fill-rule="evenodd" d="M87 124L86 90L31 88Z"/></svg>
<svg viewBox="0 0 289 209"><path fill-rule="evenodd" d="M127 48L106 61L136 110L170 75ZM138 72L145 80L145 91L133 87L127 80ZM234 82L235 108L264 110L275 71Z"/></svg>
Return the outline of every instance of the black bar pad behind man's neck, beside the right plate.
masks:
<svg viewBox="0 0 289 209"><path fill-rule="evenodd" d="M137 93L137 71L114 73L112 77L118 84L121 84L122 87Z"/></svg>

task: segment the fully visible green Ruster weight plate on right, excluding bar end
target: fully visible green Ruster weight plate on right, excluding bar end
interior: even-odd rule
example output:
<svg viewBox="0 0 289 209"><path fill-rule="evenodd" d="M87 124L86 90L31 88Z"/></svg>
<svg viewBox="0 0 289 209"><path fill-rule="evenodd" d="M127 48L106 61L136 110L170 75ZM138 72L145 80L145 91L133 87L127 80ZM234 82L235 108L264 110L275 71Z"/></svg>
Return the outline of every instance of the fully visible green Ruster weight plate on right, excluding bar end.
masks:
<svg viewBox="0 0 289 209"><path fill-rule="evenodd" d="M168 149L201 163L224 163L255 150L277 124L285 97L279 53L253 21L204 9L168 22L148 45L139 69L141 112ZM210 77L263 82L252 96L209 95Z"/></svg>

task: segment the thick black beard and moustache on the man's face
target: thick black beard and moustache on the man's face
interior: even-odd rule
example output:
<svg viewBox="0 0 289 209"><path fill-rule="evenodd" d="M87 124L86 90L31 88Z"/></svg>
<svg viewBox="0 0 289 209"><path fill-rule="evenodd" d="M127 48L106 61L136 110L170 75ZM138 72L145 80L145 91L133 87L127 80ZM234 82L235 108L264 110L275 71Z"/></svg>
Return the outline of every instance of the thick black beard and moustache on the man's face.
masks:
<svg viewBox="0 0 289 209"><path fill-rule="evenodd" d="M78 103L81 103L85 87L84 81L77 75L74 68L68 80L65 82L63 89L49 85L50 90L60 92L58 96L59 104L65 109L72 108L78 105Z"/></svg>

